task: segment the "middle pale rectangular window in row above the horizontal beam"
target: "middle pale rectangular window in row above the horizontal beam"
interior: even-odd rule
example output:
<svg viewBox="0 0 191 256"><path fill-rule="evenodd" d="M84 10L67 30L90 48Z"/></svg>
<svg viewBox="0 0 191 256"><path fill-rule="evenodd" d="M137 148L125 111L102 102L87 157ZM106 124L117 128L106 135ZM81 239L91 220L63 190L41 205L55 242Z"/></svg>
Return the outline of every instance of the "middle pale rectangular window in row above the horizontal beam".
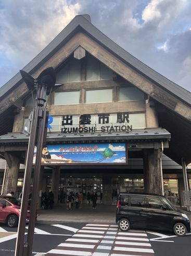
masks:
<svg viewBox="0 0 191 256"><path fill-rule="evenodd" d="M86 90L86 103L112 102L112 89Z"/></svg>

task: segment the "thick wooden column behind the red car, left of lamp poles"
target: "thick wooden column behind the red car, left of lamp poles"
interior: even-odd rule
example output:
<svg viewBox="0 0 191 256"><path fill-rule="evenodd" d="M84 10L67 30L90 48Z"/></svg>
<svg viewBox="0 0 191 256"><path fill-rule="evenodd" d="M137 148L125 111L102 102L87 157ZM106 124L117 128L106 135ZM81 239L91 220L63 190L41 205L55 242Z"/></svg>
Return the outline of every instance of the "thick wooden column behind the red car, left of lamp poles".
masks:
<svg viewBox="0 0 191 256"><path fill-rule="evenodd" d="M10 155L11 167L7 164L7 171L5 177L4 195L13 191L16 195L17 181L19 176L20 167L20 152L15 152L14 155Z"/></svg>

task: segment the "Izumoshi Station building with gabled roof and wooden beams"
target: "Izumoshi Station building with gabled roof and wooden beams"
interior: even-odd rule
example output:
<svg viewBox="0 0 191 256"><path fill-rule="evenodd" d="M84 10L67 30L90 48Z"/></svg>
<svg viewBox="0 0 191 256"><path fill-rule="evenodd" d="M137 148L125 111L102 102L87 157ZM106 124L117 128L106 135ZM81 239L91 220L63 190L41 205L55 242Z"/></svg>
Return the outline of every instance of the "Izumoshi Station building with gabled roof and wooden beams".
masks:
<svg viewBox="0 0 191 256"><path fill-rule="evenodd" d="M191 93L120 48L76 16L24 71L37 77L52 66L46 145L39 188L97 191L98 203L119 192L164 193L183 205L190 189ZM168 68L168 67L167 67ZM33 98L20 73L0 88L0 183L22 190ZM35 164L34 148L34 164ZM27 171L27 170L26 170Z"/></svg>

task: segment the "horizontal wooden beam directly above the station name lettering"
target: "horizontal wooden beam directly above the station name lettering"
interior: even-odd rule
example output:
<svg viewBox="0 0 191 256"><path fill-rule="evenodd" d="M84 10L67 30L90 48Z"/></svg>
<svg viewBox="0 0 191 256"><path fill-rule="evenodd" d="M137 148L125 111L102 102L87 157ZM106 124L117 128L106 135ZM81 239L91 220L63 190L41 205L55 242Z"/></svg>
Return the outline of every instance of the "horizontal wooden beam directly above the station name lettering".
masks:
<svg viewBox="0 0 191 256"><path fill-rule="evenodd" d="M64 114L98 114L98 113L117 113L121 110L125 112L144 112L146 111L145 100L137 101L122 101L122 102L106 102L106 103L91 103L91 104L66 104L47 106L49 115L64 115ZM29 117L31 107L24 108L24 117Z"/></svg>

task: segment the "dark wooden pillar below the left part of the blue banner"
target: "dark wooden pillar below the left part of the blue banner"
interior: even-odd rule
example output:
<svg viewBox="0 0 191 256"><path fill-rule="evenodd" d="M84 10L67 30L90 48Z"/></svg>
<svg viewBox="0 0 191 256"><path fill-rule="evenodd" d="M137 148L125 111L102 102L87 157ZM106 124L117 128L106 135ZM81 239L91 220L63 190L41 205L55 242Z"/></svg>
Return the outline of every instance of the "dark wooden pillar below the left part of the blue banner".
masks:
<svg viewBox="0 0 191 256"><path fill-rule="evenodd" d="M58 205L58 193L59 193L59 181L60 181L60 166L56 166L52 173L51 190L54 193L55 205Z"/></svg>

